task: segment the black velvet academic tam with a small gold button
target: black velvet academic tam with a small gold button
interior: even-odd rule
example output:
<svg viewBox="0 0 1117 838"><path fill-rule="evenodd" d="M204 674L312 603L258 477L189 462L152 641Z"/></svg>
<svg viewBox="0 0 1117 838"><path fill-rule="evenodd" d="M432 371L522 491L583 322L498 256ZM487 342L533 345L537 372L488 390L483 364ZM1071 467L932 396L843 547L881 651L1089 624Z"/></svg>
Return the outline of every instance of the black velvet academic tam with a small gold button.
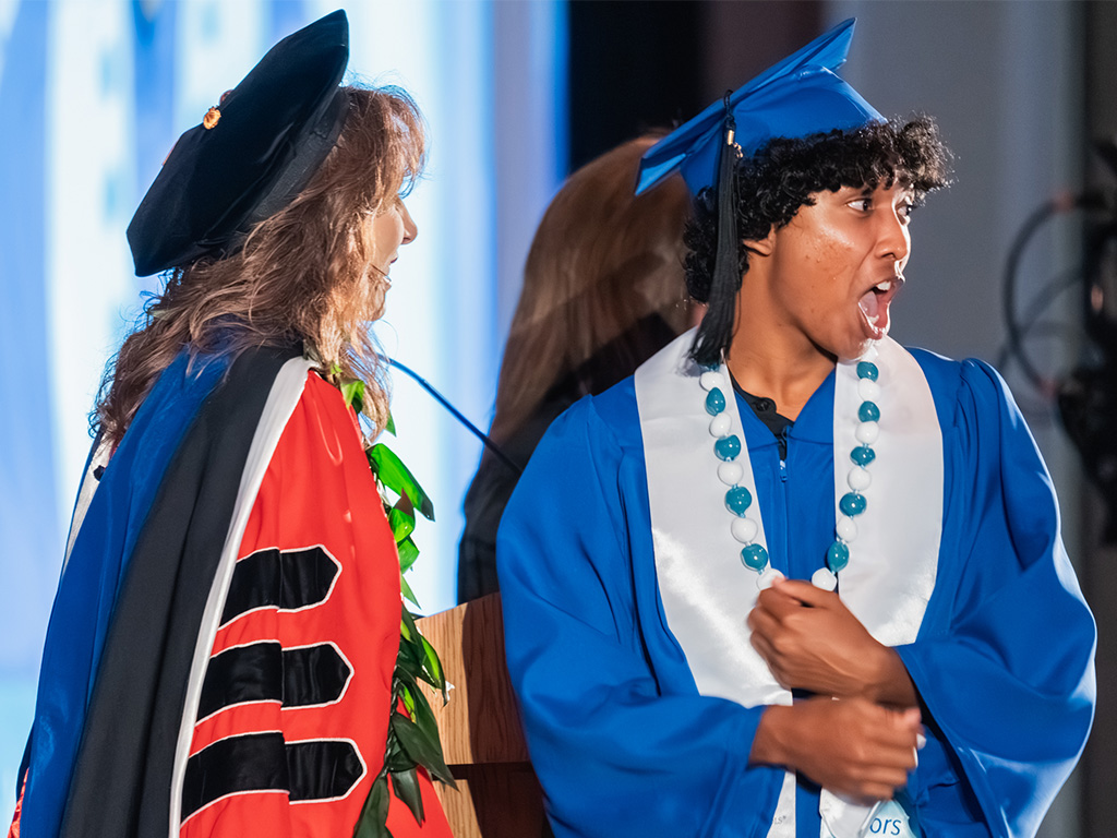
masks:
<svg viewBox="0 0 1117 838"><path fill-rule="evenodd" d="M347 64L338 9L276 44L179 137L128 225L137 276L235 253L294 200L345 122Z"/></svg>

